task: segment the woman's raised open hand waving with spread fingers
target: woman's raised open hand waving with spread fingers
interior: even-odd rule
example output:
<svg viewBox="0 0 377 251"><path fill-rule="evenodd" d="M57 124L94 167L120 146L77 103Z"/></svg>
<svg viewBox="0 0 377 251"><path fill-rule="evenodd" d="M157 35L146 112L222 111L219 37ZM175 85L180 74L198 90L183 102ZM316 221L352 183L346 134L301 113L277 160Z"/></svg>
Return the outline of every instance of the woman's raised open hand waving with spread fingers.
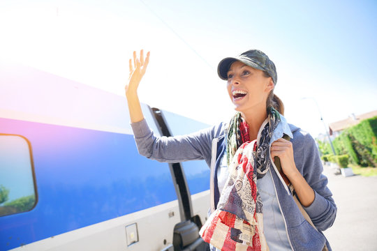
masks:
<svg viewBox="0 0 377 251"><path fill-rule="evenodd" d="M149 54L148 52L144 59L144 51L140 50L139 59L136 52L133 52L133 59L129 60L130 75L128 77L128 84L126 84L126 96L128 96L128 94L134 95L137 93L140 81L147 70Z"/></svg>

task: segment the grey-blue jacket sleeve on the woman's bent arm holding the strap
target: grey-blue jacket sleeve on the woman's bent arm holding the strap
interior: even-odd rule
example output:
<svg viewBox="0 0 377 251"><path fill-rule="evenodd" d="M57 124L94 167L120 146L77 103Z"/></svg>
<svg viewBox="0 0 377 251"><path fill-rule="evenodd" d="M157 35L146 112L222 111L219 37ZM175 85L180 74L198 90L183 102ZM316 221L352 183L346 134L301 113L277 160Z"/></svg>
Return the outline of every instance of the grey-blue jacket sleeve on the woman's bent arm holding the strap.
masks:
<svg viewBox="0 0 377 251"><path fill-rule="evenodd" d="M334 223L337 206L334 199L332 199L332 192L327 188L327 177L322 174L323 166L316 142L309 133L304 135L304 138L303 175L315 193L313 203L304 207L304 209L313 224L319 230L324 231Z"/></svg>

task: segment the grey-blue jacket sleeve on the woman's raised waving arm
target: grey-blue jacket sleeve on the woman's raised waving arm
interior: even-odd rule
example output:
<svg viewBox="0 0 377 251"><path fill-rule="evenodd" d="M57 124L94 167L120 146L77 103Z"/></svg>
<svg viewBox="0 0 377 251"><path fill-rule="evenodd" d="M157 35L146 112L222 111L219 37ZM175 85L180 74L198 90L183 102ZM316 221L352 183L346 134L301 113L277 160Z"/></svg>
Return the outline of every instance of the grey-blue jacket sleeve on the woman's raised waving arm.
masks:
<svg viewBox="0 0 377 251"><path fill-rule="evenodd" d="M160 162L203 160L211 155L212 131L207 128L189 135L156 137L143 119L131 123L136 146L141 155Z"/></svg>

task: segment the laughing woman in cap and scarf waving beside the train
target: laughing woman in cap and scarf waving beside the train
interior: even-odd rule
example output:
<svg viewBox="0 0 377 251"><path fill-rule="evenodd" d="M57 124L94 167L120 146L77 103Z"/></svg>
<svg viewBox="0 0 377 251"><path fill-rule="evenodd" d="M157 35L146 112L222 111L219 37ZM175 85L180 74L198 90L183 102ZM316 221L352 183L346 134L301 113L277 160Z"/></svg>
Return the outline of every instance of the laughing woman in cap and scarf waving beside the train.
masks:
<svg viewBox="0 0 377 251"><path fill-rule="evenodd" d="M237 111L229 124L163 139L147 126L137 95L148 63L142 51L130 59L126 98L135 141L147 158L204 159L211 167L212 214L202 238L221 250L331 250L321 231L332 226L337 207L313 138L282 116L269 57L249 50L219 63Z"/></svg>

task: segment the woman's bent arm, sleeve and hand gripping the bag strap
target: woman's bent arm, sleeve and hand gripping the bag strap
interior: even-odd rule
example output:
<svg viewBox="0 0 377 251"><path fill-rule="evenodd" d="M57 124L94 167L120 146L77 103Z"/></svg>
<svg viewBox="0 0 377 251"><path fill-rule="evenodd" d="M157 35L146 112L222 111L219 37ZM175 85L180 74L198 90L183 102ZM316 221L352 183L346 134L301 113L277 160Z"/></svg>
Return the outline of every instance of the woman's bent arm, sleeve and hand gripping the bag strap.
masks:
<svg viewBox="0 0 377 251"><path fill-rule="evenodd" d="M286 174L293 184L297 197L300 199L302 206L304 206L306 213L308 213L313 221L313 224L323 231L331 227L334 223L337 215L337 206L334 203L334 199L332 199L332 192L327 188L327 177L322 174L323 167L314 139L309 134L297 134L294 139L296 142L300 141L296 143L295 146L295 156L296 160L299 162L295 163L290 155L290 153L293 153L293 149L290 149L290 146L286 144L286 147L283 147L285 153L279 153L283 158L286 156L285 162L281 160L281 167L284 174L287 172L290 176L288 177ZM281 144L273 143L273 145ZM281 147L282 146L279 146L280 150L282 149ZM276 148L274 147L271 151L272 156L277 155L275 151ZM289 156L289 158L287 156ZM292 161L294 164L292 164ZM297 167L299 167L298 169L296 168L296 164ZM294 170L293 167L295 167L297 171ZM297 172L299 172L300 176ZM302 179L304 179L305 182L302 181ZM311 201L311 203L305 204L308 201Z"/></svg>

